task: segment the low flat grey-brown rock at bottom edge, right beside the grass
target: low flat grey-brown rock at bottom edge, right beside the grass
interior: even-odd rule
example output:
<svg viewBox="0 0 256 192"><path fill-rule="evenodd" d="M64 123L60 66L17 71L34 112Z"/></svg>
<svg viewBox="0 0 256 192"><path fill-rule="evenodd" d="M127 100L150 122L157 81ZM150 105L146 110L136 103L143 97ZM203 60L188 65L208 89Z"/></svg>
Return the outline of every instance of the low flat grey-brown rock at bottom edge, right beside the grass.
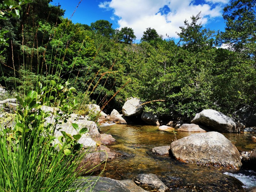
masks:
<svg viewBox="0 0 256 192"><path fill-rule="evenodd" d="M88 176L79 180L79 189L76 192L146 192L132 180L114 180L107 177ZM83 189L83 186L87 188ZM81 189L80 189L81 188Z"/></svg>

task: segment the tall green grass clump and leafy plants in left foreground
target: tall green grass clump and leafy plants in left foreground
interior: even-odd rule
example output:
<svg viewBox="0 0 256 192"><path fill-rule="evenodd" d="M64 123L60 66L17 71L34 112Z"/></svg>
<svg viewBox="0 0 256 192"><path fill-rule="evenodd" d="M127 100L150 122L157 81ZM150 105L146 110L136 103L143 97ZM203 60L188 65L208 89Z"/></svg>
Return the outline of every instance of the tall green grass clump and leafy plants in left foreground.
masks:
<svg viewBox="0 0 256 192"><path fill-rule="evenodd" d="M53 142L55 125L45 122L50 116L42 106L59 99L60 111L56 123L65 122L77 103L68 105L66 99L72 96L73 88L56 84L43 87L38 84L36 91L29 91L24 98L17 96L19 108L14 127L1 127L0 132L0 188L4 191L65 191L72 190L77 179L78 164L84 157L80 151L83 145L77 143L86 128L77 130L76 135L62 131ZM56 95L53 97L52 95ZM8 162L8 163L7 163Z"/></svg>

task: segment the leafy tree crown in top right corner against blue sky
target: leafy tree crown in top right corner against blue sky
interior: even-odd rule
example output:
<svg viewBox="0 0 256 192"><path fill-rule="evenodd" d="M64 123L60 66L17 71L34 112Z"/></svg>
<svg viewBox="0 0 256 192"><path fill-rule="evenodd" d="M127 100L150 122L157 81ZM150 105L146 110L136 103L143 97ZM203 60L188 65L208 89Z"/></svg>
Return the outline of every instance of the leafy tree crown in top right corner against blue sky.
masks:
<svg viewBox="0 0 256 192"><path fill-rule="evenodd" d="M223 11L226 27L222 43L250 58L255 66L256 0L231 0Z"/></svg>

